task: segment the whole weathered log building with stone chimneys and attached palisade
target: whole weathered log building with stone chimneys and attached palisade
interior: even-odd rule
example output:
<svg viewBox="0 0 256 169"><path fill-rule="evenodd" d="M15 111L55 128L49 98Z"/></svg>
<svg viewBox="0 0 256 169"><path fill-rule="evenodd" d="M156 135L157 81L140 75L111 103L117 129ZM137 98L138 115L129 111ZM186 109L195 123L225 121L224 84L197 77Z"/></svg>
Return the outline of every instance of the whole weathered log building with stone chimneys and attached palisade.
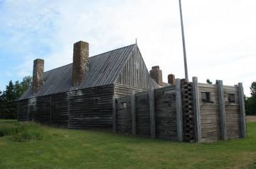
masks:
<svg viewBox="0 0 256 169"><path fill-rule="evenodd" d="M18 121L106 129L174 141L246 136L242 83L184 83L161 69L146 69L137 44L89 57L76 42L73 64L44 72L33 63L33 84L18 100Z"/></svg>

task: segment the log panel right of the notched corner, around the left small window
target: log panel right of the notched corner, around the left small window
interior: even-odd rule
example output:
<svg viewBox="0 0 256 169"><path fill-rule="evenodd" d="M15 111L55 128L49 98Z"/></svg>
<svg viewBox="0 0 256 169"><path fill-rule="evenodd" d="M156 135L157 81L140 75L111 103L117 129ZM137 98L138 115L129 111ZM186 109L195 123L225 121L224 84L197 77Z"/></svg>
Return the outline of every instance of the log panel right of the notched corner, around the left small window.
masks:
<svg viewBox="0 0 256 169"><path fill-rule="evenodd" d="M201 141L216 141L221 139L220 112L218 103L218 86L198 83L200 117L201 117ZM210 92L210 100L213 103L203 102L201 92Z"/></svg>

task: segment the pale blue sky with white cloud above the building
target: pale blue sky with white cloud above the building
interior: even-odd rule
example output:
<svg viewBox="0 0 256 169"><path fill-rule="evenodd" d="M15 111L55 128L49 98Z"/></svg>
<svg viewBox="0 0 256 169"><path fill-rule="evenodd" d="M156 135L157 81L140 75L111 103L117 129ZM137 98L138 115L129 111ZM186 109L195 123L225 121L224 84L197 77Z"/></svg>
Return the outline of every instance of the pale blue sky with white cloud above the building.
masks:
<svg viewBox="0 0 256 169"><path fill-rule="evenodd" d="M207 78L246 95L256 81L256 1L182 0L188 78ZM159 65L184 78L178 0L0 0L0 91L32 75L73 62L73 44L89 42L90 56L137 42L148 70Z"/></svg>

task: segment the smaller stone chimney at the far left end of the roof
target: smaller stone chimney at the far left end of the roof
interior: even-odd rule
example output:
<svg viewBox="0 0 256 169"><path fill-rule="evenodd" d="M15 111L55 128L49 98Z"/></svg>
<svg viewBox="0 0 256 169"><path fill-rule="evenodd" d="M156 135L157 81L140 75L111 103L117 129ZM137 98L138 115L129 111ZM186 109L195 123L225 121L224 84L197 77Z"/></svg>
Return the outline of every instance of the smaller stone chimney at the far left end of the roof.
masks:
<svg viewBox="0 0 256 169"><path fill-rule="evenodd" d="M44 60L36 59L33 62L33 82L32 82L32 91L36 93L40 90L43 84L43 68Z"/></svg>

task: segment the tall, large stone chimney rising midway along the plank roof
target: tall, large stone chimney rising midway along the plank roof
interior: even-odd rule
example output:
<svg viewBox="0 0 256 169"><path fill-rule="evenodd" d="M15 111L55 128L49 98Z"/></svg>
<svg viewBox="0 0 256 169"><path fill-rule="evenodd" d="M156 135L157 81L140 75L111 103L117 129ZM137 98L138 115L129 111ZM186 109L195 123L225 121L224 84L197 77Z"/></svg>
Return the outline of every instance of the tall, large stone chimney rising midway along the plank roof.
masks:
<svg viewBox="0 0 256 169"><path fill-rule="evenodd" d="M76 42L73 49L73 86L79 86L89 71L89 43Z"/></svg>

